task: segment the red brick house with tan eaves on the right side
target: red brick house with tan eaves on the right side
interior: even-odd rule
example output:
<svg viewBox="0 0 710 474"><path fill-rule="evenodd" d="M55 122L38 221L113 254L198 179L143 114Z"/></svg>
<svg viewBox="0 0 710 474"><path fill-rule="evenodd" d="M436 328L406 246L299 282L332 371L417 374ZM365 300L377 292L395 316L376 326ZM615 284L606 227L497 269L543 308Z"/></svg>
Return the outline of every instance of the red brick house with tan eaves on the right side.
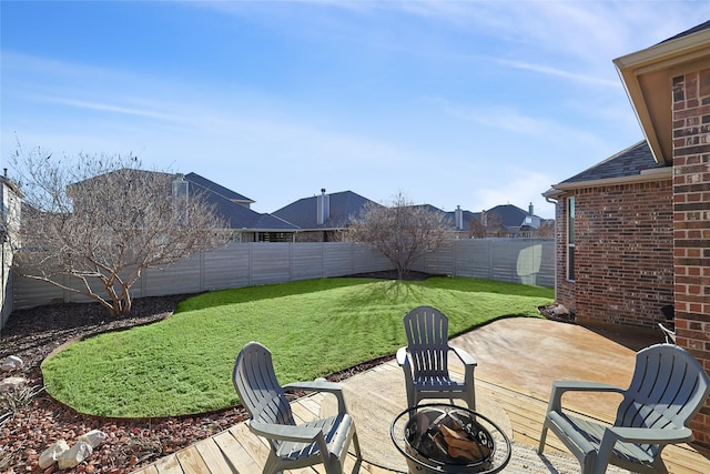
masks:
<svg viewBox="0 0 710 474"><path fill-rule="evenodd" d="M618 325L653 326L672 304L677 344L710 372L710 21L613 62L646 142L545 193L557 299ZM692 428L710 444L710 402Z"/></svg>

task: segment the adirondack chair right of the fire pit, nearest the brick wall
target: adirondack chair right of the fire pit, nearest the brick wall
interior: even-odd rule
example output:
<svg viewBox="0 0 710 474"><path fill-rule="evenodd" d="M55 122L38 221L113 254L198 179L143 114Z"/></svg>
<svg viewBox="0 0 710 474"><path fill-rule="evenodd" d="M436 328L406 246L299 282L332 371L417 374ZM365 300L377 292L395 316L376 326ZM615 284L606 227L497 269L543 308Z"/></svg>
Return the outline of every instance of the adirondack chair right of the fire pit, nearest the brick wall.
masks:
<svg viewBox="0 0 710 474"><path fill-rule="evenodd" d="M574 416L561 406L565 392L616 392L623 395L613 425ZM688 423L710 393L710 377L684 349L656 344L639 351L627 390L592 383L552 383L538 453L547 430L577 457L582 474L601 474L608 464L635 473L667 473L661 451L667 444L692 441Z"/></svg>

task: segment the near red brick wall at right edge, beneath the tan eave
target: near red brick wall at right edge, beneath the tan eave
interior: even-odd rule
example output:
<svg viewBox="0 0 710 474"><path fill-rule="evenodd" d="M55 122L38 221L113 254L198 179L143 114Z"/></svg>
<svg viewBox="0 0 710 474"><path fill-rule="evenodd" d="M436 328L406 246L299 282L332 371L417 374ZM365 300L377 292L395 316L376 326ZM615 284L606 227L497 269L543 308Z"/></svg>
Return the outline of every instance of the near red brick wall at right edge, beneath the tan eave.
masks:
<svg viewBox="0 0 710 474"><path fill-rule="evenodd" d="M710 373L710 69L673 78L677 343ZM710 403L693 420L710 445Z"/></svg>

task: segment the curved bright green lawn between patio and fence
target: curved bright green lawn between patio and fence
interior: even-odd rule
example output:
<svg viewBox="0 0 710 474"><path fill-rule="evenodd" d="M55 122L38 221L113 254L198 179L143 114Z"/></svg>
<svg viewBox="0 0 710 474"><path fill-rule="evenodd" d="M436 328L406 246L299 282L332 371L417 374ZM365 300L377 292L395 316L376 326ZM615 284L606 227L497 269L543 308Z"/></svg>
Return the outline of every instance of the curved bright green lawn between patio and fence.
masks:
<svg viewBox="0 0 710 474"><path fill-rule="evenodd" d="M258 341L281 383L313 380L405 344L402 317L427 304L449 317L449 336L505 316L537 316L551 289L460 278L420 282L321 279L215 291L171 317L98 335L44 362L49 393L79 412L165 416L232 406L232 367Z"/></svg>

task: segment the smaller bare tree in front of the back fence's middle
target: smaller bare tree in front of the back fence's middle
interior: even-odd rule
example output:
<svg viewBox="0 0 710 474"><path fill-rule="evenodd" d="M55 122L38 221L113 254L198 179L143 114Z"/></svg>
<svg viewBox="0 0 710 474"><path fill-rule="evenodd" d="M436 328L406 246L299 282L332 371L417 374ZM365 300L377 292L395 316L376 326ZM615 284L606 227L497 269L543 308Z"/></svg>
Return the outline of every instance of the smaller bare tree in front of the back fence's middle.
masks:
<svg viewBox="0 0 710 474"><path fill-rule="evenodd" d="M450 239L444 213L414 205L398 193L388 205L369 202L348 229L351 238L382 252L404 279L425 253Z"/></svg>

